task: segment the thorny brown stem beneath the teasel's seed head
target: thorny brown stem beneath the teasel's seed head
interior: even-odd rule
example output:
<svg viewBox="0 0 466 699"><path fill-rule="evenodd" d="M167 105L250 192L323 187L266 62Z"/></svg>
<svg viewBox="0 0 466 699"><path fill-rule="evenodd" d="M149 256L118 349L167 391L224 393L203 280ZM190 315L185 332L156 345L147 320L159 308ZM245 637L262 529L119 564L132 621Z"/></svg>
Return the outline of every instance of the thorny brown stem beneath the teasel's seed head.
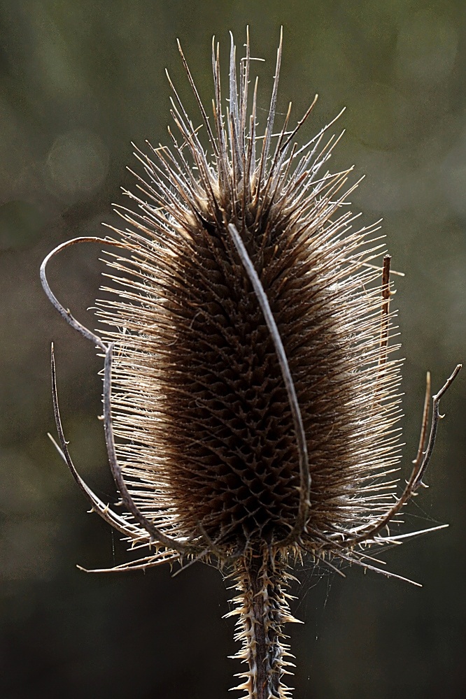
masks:
<svg viewBox="0 0 466 699"><path fill-rule="evenodd" d="M284 643L283 624L294 619L288 606L290 574L286 556L280 549L267 545L243 556L236 563L234 578L239 596L234 598L238 614L235 640L243 647L234 656L247 663L248 670L237 675L244 682L235 687L246 691L243 699L286 699L290 688L282 683L293 666L287 658L289 646Z"/></svg>

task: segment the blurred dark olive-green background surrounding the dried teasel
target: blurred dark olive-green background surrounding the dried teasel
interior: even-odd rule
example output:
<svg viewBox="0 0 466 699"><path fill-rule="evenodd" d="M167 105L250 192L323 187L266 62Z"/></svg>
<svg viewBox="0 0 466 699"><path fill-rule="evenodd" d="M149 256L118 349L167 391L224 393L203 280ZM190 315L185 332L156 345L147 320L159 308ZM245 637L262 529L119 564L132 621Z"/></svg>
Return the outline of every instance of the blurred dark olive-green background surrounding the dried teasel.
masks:
<svg viewBox="0 0 466 699"><path fill-rule="evenodd" d="M99 234L120 186L134 187L131 141L168 143L167 66L197 120L176 37L209 104L211 38L241 47L250 25L269 103L284 27L278 111L317 131L347 106L332 159L366 174L353 196L363 221L383 217L396 278L404 366L404 475L416 453L425 370L438 389L466 344L466 10L464 0L0 1L0 605L1 696L13 699L209 699L227 696L236 661L232 592L202 565L171 579L86 575L125 560L46 433L55 433L55 340L66 435L104 500L114 489L101 423L101 361L62 322L38 282L52 247ZM225 70L226 73L226 70ZM261 113L261 112L260 112ZM264 112L262 112L264 113ZM50 268L53 288L93 326L97 246ZM449 523L385 555L423 589L347 570L300 572L292 628L297 699L466 696L465 379L443 404L437 450L405 529Z"/></svg>

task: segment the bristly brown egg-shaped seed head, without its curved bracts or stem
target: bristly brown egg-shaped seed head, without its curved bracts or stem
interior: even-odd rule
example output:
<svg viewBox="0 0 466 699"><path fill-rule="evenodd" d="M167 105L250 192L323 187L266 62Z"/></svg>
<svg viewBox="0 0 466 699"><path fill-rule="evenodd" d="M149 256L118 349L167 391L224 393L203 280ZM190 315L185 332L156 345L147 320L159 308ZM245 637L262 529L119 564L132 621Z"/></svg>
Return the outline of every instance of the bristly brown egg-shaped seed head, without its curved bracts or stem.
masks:
<svg viewBox="0 0 466 699"><path fill-rule="evenodd" d="M226 114L215 55L213 64L211 153L174 104L181 143L138 153L146 176L143 194L129 194L137 213L120 209L130 257L109 259L113 300L99 303L115 342L116 454L136 505L171 536L211 540L226 557L293 530L297 434L234 224L269 301L306 435L309 514L290 543L319 547L392 504L399 362L386 361L385 301L368 264L381 246L370 244L374 227L351 229L348 173L326 169L332 139L318 134L298 149L289 113L275 134L276 85L259 139L248 56L238 89L232 50Z"/></svg>

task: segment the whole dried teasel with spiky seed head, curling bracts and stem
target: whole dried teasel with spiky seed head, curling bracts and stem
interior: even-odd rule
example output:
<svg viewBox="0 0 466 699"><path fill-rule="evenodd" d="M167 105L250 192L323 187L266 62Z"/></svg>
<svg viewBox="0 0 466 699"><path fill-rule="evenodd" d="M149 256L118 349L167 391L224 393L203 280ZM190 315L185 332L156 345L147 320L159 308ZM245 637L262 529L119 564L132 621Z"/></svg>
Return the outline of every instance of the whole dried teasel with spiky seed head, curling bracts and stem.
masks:
<svg viewBox="0 0 466 699"><path fill-rule="evenodd" d="M428 382L418 455L397 498L390 258L378 224L353 230L349 171L327 171L338 139L327 140L326 127L295 142L316 100L295 127L289 108L274 129L281 42L261 136L249 41L239 72L232 42L226 108L214 46L213 120L181 56L209 147L170 82L178 136L169 131L170 148L136 152L145 175L136 175L137 196L127 192L132 207L118 208L127 227L101 241L116 248L106 257L101 336L64 309L45 278L58 250L96 238L64 243L42 268L57 310L104 352L108 459L125 513L73 466L52 359L60 451L94 510L148 546L115 570L184 559L232 572L246 664L237 689L285 697L290 556L371 568L360 545L397 540L388 524L423 484L439 398L459 366L433 398L429 438Z"/></svg>

